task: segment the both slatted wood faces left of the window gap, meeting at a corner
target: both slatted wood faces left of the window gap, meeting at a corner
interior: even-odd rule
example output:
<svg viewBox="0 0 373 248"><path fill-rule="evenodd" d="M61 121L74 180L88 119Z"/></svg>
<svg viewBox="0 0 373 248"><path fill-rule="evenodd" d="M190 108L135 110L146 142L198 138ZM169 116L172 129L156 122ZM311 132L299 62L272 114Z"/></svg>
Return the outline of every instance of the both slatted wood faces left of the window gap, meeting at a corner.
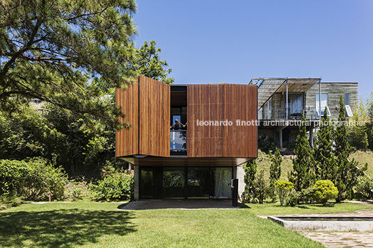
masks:
<svg viewBox="0 0 373 248"><path fill-rule="evenodd" d="M116 90L131 129L116 132L116 156L170 156L170 85L139 76L127 90Z"/></svg>

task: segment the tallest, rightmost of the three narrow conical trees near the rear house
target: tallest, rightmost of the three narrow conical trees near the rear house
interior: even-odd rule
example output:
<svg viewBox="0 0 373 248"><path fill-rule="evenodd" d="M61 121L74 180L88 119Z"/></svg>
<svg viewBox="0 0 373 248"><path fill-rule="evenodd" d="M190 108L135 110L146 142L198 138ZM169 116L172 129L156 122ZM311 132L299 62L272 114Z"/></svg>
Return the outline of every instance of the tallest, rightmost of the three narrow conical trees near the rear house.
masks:
<svg viewBox="0 0 373 248"><path fill-rule="evenodd" d="M338 188L336 199L338 202L353 197L353 188L358 182L358 176L363 176L364 170L367 170L367 164L363 169L360 169L354 158L349 160L353 149L348 142L348 136L344 102L342 96L340 96L340 113L338 115L338 125L335 128L335 156L338 163L335 185Z"/></svg>

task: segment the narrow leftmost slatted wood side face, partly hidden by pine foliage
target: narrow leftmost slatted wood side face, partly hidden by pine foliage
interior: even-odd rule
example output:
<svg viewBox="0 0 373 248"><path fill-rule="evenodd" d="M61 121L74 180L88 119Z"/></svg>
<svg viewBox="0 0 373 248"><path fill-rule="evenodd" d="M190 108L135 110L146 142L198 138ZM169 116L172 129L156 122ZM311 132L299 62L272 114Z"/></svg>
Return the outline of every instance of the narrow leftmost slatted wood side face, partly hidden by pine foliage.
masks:
<svg viewBox="0 0 373 248"><path fill-rule="evenodd" d="M138 83L129 85L127 90L116 89L116 105L122 107L131 129L116 131L116 156L138 154Z"/></svg>

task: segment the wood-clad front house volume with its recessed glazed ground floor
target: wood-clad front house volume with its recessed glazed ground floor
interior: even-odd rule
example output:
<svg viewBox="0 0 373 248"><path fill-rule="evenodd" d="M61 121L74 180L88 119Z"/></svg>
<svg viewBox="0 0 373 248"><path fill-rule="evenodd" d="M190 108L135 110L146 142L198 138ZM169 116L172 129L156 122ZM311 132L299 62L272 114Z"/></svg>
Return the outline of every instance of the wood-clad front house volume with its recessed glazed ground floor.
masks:
<svg viewBox="0 0 373 248"><path fill-rule="evenodd" d="M116 104L131 125L116 133L116 157L134 165L135 199L230 199L237 165L257 158L257 85L139 76ZM170 130L175 119L183 130Z"/></svg>

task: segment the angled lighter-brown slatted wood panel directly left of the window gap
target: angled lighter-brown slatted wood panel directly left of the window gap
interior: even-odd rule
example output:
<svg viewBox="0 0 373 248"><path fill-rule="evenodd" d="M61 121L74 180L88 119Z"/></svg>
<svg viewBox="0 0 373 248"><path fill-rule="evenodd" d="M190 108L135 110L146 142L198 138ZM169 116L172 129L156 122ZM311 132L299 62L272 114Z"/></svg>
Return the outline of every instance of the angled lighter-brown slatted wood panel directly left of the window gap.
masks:
<svg viewBox="0 0 373 248"><path fill-rule="evenodd" d="M139 76L139 151L170 156L170 85Z"/></svg>

